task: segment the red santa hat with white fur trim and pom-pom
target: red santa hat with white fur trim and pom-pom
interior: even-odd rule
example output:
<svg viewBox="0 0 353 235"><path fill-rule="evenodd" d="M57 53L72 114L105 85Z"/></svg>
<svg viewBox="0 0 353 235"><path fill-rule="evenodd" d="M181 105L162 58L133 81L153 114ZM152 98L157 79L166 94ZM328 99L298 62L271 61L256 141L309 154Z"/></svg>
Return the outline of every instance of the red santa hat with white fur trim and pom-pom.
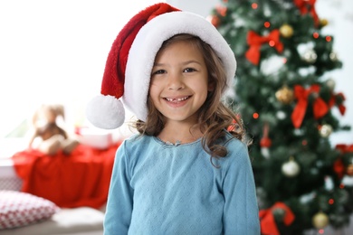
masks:
<svg viewBox="0 0 353 235"><path fill-rule="evenodd" d="M113 42L100 96L92 99L86 109L91 124L105 129L120 127L125 120L124 107L146 121L149 80L156 54L164 41L179 33L196 35L210 44L224 63L227 87L232 84L236 69L234 52L213 24L166 3L151 5L133 16Z"/></svg>

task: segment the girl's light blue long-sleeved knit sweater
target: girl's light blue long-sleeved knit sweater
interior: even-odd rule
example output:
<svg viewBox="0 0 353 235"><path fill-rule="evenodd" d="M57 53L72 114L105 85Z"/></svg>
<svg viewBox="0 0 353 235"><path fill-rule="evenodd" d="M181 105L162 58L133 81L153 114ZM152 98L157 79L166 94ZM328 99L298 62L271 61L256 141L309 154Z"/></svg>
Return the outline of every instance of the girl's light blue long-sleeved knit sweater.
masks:
<svg viewBox="0 0 353 235"><path fill-rule="evenodd" d="M247 147L237 139L224 145L228 155L213 159L215 167L201 139L184 145L154 136L125 140L115 158L104 234L260 234Z"/></svg>

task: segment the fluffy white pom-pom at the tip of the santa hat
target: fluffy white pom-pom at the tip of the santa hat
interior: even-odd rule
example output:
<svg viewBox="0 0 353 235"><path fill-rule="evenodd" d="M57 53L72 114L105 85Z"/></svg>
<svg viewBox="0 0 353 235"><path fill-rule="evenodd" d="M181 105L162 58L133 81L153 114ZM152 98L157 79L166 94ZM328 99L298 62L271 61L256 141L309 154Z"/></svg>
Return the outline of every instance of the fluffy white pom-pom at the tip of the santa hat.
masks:
<svg viewBox="0 0 353 235"><path fill-rule="evenodd" d="M115 129L124 123L125 109L119 99L100 95L88 103L86 116L95 127Z"/></svg>

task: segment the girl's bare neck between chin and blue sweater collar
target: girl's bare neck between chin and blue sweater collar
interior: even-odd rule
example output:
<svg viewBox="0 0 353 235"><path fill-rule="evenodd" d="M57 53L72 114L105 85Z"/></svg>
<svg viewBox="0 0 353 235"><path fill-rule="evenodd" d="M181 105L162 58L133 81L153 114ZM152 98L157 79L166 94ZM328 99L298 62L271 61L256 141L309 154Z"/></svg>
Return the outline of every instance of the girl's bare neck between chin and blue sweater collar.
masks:
<svg viewBox="0 0 353 235"><path fill-rule="evenodd" d="M187 144L195 142L202 136L203 134L199 127L170 124L166 125L157 137L163 142Z"/></svg>

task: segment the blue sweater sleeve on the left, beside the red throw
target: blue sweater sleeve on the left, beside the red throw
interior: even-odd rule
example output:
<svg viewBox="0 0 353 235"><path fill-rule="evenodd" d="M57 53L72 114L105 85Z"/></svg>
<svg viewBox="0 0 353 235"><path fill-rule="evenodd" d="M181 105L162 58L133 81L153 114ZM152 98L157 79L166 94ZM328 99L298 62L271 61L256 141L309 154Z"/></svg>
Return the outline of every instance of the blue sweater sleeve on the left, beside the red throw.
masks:
<svg viewBox="0 0 353 235"><path fill-rule="evenodd" d="M125 143L124 143L125 144ZM119 146L110 179L104 235L128 234L132 213L133 189L129 185L129 166L126 146Z"/></svg>

